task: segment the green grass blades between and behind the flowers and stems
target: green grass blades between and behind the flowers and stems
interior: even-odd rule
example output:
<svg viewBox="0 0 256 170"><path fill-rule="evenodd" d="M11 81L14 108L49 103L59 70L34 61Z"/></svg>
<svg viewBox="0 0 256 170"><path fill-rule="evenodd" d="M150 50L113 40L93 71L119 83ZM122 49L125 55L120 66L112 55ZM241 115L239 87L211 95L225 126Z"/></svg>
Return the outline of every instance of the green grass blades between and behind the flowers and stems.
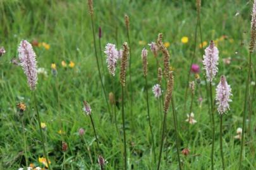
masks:
<svg viewBox="0 0 256 170"><path fill-rule="evenodd" d="M112 9L115 10L112 10ZM202 3L202 35L203 41L217 40L222 35L228 36L219 40L219 72L213 83L216 88L219 77L224 74L233 91L231 111L223 116L223 152L226 169L237 169L240 153L240 140L234 139L236 128L242 126L243 100L245 81L247 79L248 44L250 36L251 1L203 1ZM155 169L153 153L150 150L151 137L147 122L147 103L145 98L141 50L147 43L155 42L157 34L162 32L164 41L171 45L168 50L171 55L170 64L174 68L174 92L176 115L179 127L180 148L190 149L188 156L181 154L183 169L209 169L211 152L211 126L207 103L205 101L204 84L200 89L203 93L202 107L198 103L198 88L196 88L193 112L195 125L185 122L183 115L186 75L190 65L190 56L193 52L193 38L197 11L194 1L95 1L95 30L102 28L102 49L107 42L116 43L118 30L118 44L121 48L127 42L125 21L123 17L130 17L130 40L133 61L133 125L131 131L130 93L129 86L125 89L125 116L126 140L129 169ZM66 169L99 169L97 165L97 145L90 119L83 111L83 100L87 100L92 108L94 124L99 137L102 156L107 159L106 169L123 169L123 145L116 132L114 122L111 121L106 108L101 82L97 74L93 39L91 35L90 16L87 1L0 1L0 45L6 48L6 54L0 58L0 169L18 169L25 167L24 135L27 137L28 162L43 166L38 162L42 157L43 149L40 144L40 133L36 122L33 98L27 87L27 79L20 67L10 64L9 61L17 56L20 40L46 42L51 45L49 50L35 47L39 67L44 67L48 77L39 75L37 84L37 101L41 122L46 123L44 131L46 148L51 161L52 169L61 169L63 152L61 141L68 144L65 154ZM181 43L182 37L188 37L186 44ZM198 38L199 39L199 38ZM139 41L143 41L140 45ZM198 43L199 45L199 43ZM201 67L200 77L203 79L202 55L200 48L195 52L195 63ZM97 45L98 50L99 46ZM99 53L99 52L98 52ZM99 55L100 56L100 55ZM255 54L252 54L252 63L255 64ZM231 57L231 64L227 65L222 59ZM61 61L75 62L75 67L62 67ZM105 60L105 59L104 59ZM51 64L56 63L58 76L51 76ZM154 55L149 52L148 57L148 86L157 84L157 68ZM162 60L159 57L159 63ZM105 65L106 66L106 65ZM106 69L106 68L104 68ZM103 71L102 71L103 72ZM102 75L107 94L111 91L116 94L116 115L119 132L123 136L121 120L121 88L119 86L119 68L114 79L114 91L111 85L111 76ZM126 77L127 83L128 76ZM193 74L190 77L193 80ZM255 67L253 67L252 81L255 81ZM58 83L58 86L56 86ZM252 91L253 86L249 86ZM189 92L188 92L189 93ZM213 90L215 96L215 91ZM250 93L252 94L252 93ZM58 102L59 98L59 102ZM188 95L187 106L190 106ZM16 104L23 101L27 105L22 119L16 110ZM157 99L149 89L150 116L152 118L152 132L154 132L155 150L159 150L161 139L162 116L157 111ZM255 105L252 110L255 111ZM215 112L216 140L214 151L214 168L221 169L221 155L219 145L219 115ZM245 155L243 169L255 169L255 113L252 115L252 135L245 133ZM85 129L83 139L78 135L79 128ZM247 127L247 126L246 126ZM59 134L62 130L63 134ZM161 169L177 169L176 136L174 132L173 115L171 108L167 115L168 137L164 145ZM188 134L190 132L190 134ZM87 144L85 144L85 142ZM92 161L87 146L92 153ZM180 150L180 151L181 151ZM157 154L159 154L157 152ZM132 168L131 168L132 167Z"/></svg>

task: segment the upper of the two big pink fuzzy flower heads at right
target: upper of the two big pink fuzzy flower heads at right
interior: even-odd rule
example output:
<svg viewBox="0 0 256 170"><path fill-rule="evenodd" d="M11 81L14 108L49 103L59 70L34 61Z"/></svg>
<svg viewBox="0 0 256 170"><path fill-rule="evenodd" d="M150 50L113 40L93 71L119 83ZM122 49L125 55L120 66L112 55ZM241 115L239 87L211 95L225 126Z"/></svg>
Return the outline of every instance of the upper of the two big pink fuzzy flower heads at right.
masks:
<svg viewBox="0 0 256 170"><path fill-rule="evenodd" d="M219 60L219 50L214 45L213 41L210 41L209 47L205 48L205 55L204 55L204 69L206 71L207 81L212 82L214 77L218 71L218 60Z"/></svg>

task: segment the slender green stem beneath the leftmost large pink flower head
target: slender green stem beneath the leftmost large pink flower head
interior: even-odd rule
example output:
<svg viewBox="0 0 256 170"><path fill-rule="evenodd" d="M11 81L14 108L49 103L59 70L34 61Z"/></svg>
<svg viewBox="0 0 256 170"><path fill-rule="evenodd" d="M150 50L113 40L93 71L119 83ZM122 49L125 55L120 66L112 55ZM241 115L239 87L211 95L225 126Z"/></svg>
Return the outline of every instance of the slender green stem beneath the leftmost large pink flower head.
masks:
<svg viewBox="0 0 256 170"><path fill-rule="evenodd" d="M42 147L43 147L43 150L44 150L44 156L46 157L46 163L47 163L48 169L51 170L51 166L49 164L48 154L46 153L46 145L45 145L46 142L44 141L44 134L43 134L42 128L41 128L41 120L40 120L39 110L38 110L38 107L37 107L37 97L35 95L35 91L33 91L33 95L34 95L34 102L35 102L35 110L37 112L37 122L38 122L38 125L39 125L39 130L40 130L40 135L41 135L41 142L42 142Z"/></svg>

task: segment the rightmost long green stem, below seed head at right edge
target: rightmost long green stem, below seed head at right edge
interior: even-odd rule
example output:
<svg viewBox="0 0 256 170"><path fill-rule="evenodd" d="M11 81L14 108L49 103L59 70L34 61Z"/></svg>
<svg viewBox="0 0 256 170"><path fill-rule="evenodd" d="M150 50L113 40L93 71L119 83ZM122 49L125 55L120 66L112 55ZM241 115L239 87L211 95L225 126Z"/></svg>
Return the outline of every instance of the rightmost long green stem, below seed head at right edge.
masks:
<svg viewBox="0 0 256 170"><path fill-rule="evenodd" d="M248 89L250 82L250 75L252 70L252 52L249 54L249 65L248 65L248 75L247 75L247 84L245 86L245 103L243 104L243 127L242 127L242 138L241 138L241 149L240 149L240 158L239 158L239 169L241 169L241 162L243 157L243 147L245 145L245 119L247 113L247 100L248 100Z"/></svg>

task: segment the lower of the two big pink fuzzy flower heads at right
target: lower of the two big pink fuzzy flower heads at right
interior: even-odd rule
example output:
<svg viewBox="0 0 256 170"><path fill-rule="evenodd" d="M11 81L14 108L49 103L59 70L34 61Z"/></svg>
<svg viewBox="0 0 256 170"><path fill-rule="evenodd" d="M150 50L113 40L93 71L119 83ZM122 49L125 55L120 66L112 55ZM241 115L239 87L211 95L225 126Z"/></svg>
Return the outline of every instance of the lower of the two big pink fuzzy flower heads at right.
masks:
<svg viewBox="0 0 256 170"><path fill-rule="evenodd" d="M229 102L232 100L230 97L232 96L231 88L226 81L225 76L221 76L221 81L217 85L216 88L216 101L217 101L217 110L219 114L226 113L229 110Z"/></svg>

